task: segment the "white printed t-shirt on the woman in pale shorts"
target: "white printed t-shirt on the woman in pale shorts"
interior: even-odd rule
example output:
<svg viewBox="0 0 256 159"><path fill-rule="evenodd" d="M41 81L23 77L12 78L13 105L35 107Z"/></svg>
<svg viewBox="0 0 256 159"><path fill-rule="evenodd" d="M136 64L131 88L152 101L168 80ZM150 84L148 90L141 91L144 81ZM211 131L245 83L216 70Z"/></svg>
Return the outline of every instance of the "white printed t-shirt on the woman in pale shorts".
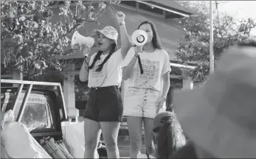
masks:
<svg viewBox="0 0 256 159"><path fill-rule="evenodd" d="M134 57L135 51L132 47L122 62L122 67L128 66ZM155 52L142 52L139 54L144 73L140 74L139 62L136 61L131 77L125 81L126 88L151 88L162 91L162 75L170 72L170 59L168 53L162 49Z"/></svg>

